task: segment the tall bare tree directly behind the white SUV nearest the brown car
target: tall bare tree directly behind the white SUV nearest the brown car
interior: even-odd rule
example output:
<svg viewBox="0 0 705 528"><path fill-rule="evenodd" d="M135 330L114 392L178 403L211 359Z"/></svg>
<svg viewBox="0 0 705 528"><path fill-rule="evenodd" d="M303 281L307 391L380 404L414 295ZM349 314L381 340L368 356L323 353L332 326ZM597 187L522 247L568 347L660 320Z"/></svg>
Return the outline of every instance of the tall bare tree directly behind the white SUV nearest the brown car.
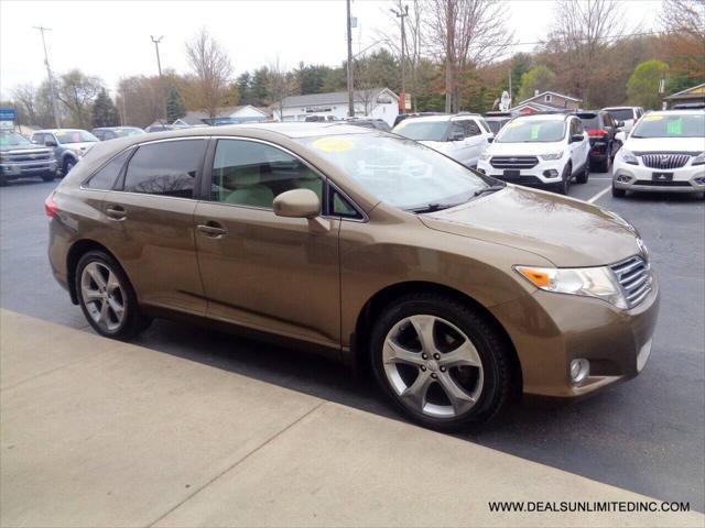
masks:
<svg viewBox="0 0 705 528"><path fill-rule="evenodd" d="M464 73L489 64L513 41L507 9L490 0L427 0L429 44L445 64L447 112L459 109Z"/></svg>

